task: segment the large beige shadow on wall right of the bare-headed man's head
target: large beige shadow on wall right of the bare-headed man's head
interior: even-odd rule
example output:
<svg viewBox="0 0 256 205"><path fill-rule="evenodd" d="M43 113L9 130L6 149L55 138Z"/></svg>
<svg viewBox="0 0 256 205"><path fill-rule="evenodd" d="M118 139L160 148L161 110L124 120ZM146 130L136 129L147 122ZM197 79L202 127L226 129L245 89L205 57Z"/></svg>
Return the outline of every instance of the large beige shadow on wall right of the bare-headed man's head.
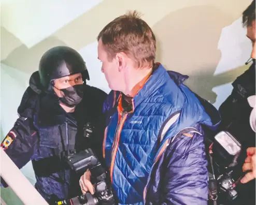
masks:
<svg viewBox="0 0 256 205"><path fill-rule="evenodd" d="M239 69L214 76L221 58L220 34L232 21L215 6L193 6L169 13L153 26L159 40L157 61L167 70L189 75L185 84L214 103L217 96L212 88L233 81Z"/></svg>

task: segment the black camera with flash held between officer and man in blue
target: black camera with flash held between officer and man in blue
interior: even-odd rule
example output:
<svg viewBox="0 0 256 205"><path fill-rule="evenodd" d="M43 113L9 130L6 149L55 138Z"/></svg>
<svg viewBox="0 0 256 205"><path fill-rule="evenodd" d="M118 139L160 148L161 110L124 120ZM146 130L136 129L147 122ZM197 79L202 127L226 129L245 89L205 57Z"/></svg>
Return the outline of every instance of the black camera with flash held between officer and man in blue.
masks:
<svg viewBox="0 0 256 205"><path fill-rule="evenodd" d="M92 126L88 123L84 126L84 137L92 135ZM64 157L67 165L77 174L83 174L85 171L91 171L91 182L95 184L95 194L86 193L72 199L56 201L56 205L115 205L115 199L111 191L108 172L99 163L98 158L91 149L80 152L72 150L68 156ZM77 182L79 183L79 182Z"/></svg>

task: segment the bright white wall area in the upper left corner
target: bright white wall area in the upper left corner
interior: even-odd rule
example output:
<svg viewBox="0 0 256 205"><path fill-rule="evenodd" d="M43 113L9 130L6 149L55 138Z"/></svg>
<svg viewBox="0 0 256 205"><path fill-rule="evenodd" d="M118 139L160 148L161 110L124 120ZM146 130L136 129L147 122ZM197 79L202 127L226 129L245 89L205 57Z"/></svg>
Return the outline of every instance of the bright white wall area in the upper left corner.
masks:
<svg viewBox="0 0 256 205"><path fill-rule="evenodd" d="M12 1L2 4L1 26L31 48L101 2Z"/></svg>

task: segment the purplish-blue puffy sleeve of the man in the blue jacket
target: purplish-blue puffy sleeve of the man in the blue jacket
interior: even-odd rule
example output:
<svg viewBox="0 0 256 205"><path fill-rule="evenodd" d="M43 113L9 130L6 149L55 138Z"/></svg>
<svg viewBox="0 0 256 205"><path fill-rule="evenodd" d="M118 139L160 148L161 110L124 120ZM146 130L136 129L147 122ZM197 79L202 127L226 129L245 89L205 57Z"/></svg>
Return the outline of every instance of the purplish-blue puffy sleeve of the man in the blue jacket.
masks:
<svg viewBox="0 0 256 205"><path fill-rule="evenodd" d="M207 204L208 171L204 137L197 133L177 136L163 157L161 203Z"/></svg>

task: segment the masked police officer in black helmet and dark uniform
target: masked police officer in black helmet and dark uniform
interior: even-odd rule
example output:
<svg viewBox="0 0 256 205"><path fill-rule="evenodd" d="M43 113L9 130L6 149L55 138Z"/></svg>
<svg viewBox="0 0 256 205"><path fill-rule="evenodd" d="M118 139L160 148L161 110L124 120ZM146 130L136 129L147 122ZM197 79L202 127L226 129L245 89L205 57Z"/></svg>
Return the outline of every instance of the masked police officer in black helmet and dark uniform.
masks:
<svg viewBox="0 0 256 205"><path fill-rule="evenodd" d="M35 188L49 204L82 194L80 176L64 162L70 151L92 148L102 156L106 93L86 80L88 70L77 51L48 50L22 97L20 117L1 144L19 168L32 160ZM92 139L83 134L88 123L94 127ZM8 185L1 179L1 186Z"/></svg>

